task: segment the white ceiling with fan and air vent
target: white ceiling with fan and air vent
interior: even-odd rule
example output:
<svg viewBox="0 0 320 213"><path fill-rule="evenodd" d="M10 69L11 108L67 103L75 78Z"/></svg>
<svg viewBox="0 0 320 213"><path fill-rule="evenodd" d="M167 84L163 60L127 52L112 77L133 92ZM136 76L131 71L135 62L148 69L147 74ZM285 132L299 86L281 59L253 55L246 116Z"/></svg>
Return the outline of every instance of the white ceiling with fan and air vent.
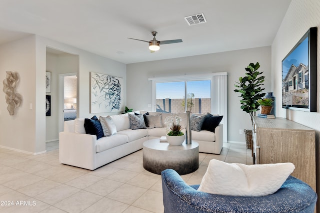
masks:
<svg viewBox="0 0 320 213"><path fill-rule="evenodd" d="M123 63L271 45L291 0L0 0L0 44L37 34ZM189 26L185 16L204 13ZM150 53L127 39L182 39Z"/></svg>

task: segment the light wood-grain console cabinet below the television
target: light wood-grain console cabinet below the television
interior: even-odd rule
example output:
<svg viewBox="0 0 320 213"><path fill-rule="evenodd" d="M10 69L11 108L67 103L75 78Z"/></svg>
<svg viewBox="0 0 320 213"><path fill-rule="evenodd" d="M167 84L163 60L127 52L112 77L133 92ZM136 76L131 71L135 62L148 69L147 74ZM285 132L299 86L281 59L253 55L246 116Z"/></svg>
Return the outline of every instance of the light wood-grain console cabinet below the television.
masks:
<svg viewBox="0 0 320 213"><path fill-rule="evenodd" d="M284 118L253 120L254 163L291 162L295 166L291 175L315 191L315 131Z"/></svg>

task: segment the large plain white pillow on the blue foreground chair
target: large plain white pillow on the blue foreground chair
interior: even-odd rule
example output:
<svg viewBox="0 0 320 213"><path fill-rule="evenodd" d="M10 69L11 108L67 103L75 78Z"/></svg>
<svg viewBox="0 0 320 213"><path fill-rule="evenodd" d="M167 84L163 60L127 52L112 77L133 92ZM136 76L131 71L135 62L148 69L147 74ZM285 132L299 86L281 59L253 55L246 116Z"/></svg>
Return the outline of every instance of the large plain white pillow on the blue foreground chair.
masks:
<svg viewBox="0 0 320 213"><path fill-rule="evenodd" d="M266 196L275 193L293 172L292 163L228 164L211 160L198 191L229 196Z"/></svg>

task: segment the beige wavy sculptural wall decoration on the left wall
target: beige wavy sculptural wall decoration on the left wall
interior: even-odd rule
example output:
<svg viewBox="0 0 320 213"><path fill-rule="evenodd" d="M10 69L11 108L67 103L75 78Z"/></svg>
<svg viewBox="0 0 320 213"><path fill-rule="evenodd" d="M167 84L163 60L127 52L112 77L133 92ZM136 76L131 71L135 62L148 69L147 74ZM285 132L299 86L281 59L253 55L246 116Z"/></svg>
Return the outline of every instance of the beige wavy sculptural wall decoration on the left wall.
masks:
<svg viewBox="0 0 320 213"><path fill-rule="evenodd" d="M7 110L10 115L14 115L14 109L19 107L22 102L22 95L15 91L20 81L17 72L6 71L6 78L3 80L3 92L5 93L5 103L8 104Z"/></svg>

